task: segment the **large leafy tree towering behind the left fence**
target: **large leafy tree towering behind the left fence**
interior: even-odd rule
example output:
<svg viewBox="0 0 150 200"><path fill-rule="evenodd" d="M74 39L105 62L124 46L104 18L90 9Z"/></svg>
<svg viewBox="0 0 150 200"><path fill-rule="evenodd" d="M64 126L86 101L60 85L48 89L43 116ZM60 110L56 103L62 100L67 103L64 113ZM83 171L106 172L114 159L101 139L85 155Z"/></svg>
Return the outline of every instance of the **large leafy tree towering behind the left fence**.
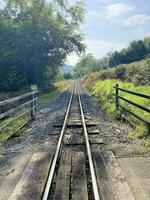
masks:
<svg viewBox="0 0 150 200"><path fill-rule="evenodd" d="M82 2L4 0L0 9L0 91L31 84L49 88L71 52L85 46Z"/></svg>

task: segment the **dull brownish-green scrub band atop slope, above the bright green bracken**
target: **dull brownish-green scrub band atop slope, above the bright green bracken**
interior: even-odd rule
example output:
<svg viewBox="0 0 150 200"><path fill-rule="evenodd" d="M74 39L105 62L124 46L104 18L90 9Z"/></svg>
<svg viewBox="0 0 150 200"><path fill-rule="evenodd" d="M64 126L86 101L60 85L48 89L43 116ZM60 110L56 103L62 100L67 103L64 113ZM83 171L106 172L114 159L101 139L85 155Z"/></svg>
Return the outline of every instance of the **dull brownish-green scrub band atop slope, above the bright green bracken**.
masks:
<svg viewBox="0 0 150 200"><path fill-rule="evenodd" d="M133 82L137 85L148 85L150 83L150 57L138 62L122 64L112 69L88 74L86 78L89 79L89 82L94 79L119 79L125 82Z"/></svg>

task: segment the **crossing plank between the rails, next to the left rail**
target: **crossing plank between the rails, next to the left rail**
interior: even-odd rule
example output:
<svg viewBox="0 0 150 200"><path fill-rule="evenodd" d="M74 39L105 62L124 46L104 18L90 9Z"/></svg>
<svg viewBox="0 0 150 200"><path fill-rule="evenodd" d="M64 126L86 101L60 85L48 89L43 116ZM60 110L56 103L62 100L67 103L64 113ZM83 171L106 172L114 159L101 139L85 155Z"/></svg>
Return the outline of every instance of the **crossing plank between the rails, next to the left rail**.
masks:
<svg viewBox="0 0 150 200"><path fill-rule="evenodd" d="M54 192L55 200L69 200L70 195L70 175L71 175L71 152L63 152L60 168L56 178L56 188Z"/></svg>

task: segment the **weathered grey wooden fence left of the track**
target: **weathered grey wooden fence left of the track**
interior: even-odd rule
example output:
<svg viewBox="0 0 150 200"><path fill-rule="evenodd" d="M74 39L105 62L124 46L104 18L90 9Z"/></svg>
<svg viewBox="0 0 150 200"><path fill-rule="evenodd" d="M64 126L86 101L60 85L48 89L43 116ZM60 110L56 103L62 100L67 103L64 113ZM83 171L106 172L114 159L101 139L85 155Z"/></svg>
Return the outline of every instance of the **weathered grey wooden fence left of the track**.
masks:
<svg viewBox="0 0 150 200"><path fill-rule="evenodd" d="M38 94L38 91L33 91L30 93L23 94L21 96L0 101L0 108L2 107L5 108L5 109L2 109L4 111L0 113L0 122L4 121L4 124L0 126L0 133L4 131L5 129L7 129L8 126L11 126L15 121L17 121L21 117L24 117L30 114L29 119L24 124L19 126L11 134L12 136L15 133L17 133L21 128L23 128L31 119L34 118L35 113L36 113L36 106L37 106L36 104L37 94ZM9 108L7 109L7 107ZM11 120L8 120L8 122L5 123L5 121L7 121L6 119L10 117L11 117Z"/></svg>

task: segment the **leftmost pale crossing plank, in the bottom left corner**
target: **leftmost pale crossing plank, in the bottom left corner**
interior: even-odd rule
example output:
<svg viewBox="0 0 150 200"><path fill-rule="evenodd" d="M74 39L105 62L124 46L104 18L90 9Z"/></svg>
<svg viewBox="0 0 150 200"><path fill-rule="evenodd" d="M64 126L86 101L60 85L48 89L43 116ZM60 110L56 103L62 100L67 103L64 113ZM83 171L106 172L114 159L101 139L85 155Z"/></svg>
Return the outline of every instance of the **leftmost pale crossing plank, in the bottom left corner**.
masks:
<svg viewBox="0 0 150 200"><path fill-rule="evenodd" d="M6 200L19 181L32 153L10 153L0 159L0 200Z"/></svg>

